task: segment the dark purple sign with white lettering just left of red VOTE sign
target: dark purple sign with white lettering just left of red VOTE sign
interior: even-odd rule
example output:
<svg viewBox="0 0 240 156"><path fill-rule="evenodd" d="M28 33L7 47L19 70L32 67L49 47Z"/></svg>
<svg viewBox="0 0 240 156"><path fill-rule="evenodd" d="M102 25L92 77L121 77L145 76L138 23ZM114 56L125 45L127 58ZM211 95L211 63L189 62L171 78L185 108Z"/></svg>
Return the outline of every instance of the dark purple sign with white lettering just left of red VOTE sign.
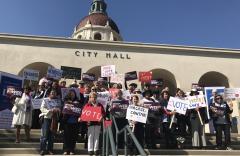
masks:
<svg viewBox="0 0 240 156"><path fill-rule="evenodd" d="M81 114L81 110L81 108L76 107L76 104L69 102L64 104L62 113L79 116Z"/></svg>

